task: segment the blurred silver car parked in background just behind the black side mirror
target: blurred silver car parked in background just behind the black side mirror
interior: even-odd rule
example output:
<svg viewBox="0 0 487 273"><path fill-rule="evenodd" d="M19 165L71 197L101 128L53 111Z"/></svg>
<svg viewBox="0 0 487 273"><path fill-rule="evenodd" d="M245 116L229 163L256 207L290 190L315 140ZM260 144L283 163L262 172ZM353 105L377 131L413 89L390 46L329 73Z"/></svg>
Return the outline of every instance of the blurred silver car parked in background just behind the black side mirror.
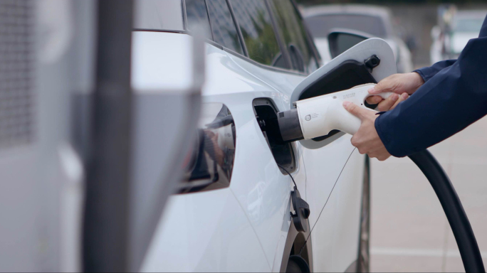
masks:
<svg viewBox="0 0 487 273"><path fill-rule="evenodd" d="M383 38L394 52L397 71L406 73L413 70L411 52L406 43L394 34L392 14L387 8L370 5L310 6L303 9L303 16L325 62L331 60L328 34L336 29L350 29Z"/></svg>

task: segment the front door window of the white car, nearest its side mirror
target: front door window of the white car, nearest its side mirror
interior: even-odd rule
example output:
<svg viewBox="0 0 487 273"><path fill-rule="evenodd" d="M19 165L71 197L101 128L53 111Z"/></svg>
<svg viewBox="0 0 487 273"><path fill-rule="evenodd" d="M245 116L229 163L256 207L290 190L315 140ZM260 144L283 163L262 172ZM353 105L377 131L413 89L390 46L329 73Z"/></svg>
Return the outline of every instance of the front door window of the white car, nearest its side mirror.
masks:
<svg viewBox="0 0 487 273"><path fill-rule="evenodd" d="M288 49L293 69L311 73L318 69L318 60L306 37L303 21L289 0L272 0L271 9L281 38Z"/></svg>

